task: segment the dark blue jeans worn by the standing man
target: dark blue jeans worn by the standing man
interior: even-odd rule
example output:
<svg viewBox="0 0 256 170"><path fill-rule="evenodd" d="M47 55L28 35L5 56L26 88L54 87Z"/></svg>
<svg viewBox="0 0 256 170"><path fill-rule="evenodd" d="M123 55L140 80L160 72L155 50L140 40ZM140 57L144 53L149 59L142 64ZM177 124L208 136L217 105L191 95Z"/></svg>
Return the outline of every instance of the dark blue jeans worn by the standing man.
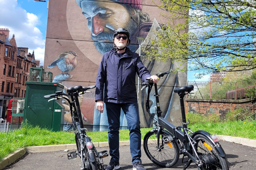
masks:
<svg viewBox="0 0 256 170"><path fill-rule="evenodd" d="M119 128L120 113L124 111L127 126L130 131L130 151L132 163L141 161L141 133L138 103L105 103L108 117L108 143L110 161L119 162Z"/></svg>

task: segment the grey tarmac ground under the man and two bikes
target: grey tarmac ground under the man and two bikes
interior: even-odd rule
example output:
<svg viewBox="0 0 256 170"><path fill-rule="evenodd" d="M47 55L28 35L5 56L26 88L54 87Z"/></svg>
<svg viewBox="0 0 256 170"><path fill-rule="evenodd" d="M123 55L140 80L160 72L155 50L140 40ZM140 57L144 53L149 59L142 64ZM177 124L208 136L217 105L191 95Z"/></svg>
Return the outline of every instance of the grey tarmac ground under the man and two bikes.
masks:
<svg viewBox="0 0 256 170"><path fill-rule="evenodd" d="M232 142L221 141L220 144L226 152L228 165L230 170L243 169L254 170L256 169L256 148L235 144ZM108 148L97 148L98 151L108 150ZM109 163L110 157L103 158L105 166ZM161 168L152 163L146 156L142 146L142 163L147 170L182 170L185 164L181 163L182 157L176 165L171 168ZM120 170L131 170L131 154L130 146L120 146ZM7 167L9 170L74 170L79 169L80 159L67 159L66 152L41 152L41 153L28 153L16 163ZM188 170L197 170L195 164L192 163Z"/></svg>

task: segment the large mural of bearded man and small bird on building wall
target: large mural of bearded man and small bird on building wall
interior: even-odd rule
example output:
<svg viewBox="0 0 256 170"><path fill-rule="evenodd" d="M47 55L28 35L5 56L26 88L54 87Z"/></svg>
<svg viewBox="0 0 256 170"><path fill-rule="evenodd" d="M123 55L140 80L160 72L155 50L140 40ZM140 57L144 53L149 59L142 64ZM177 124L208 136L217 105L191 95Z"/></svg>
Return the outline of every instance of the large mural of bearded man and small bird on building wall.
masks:
<svg viewBox="0 0 256 170"><path fill-rule="evenodd" d="M126 28L130 32L129 48L132 51L138 52L137 37L144 37L144 44L149 42L149 38L155 38L153 31L161 30L160 21L164 18L159 13L163 11L151 1L143 1L143 3L142 0L49 1L44 64L48 65L47 71L53 72L54 82L62 83L66 87L95 84L102 54L113 48L113 33L117 28ZM52 57L52 54L57 51L58 57ZM178 66L178 63L171 61L160 63L144 58L142 60L152 75L158 73L159 70L175 70ZM180 113L179 110L177 112L175 111L177 109L172 108L174 105L179 105L179 98L172 96L172 91L174 86L185 85L186 78L186 73L176 73L164 77L158 83L163 117L177 124L180 121ZM141 127L149 127L152 123L144 106L146 90L139 93ZM91 94L85 94L81 98L84 124L93 125L93 130L107 130L106 113L101 114L95 108L94 90ZM153 92L150 100L152 100L151 113L154 113ZM66 110L65 106L65 122L71 124L68 109L67 107ZM126 126L125 116L122 113L120 127L126 128Z"/></svg>

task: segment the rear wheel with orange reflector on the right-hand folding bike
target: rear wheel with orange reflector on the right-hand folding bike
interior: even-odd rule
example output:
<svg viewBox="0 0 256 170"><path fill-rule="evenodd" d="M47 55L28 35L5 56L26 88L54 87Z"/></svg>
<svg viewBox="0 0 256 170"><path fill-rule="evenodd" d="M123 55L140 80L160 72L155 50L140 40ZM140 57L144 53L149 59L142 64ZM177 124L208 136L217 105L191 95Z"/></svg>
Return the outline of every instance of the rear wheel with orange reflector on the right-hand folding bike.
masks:
<svg viewBox="0 0 256 170"><path fill-rule="evenodd" d="M229 170L226 158L221 157L204 135L197 134L195 149L203 165L198 170Z"/></svg>

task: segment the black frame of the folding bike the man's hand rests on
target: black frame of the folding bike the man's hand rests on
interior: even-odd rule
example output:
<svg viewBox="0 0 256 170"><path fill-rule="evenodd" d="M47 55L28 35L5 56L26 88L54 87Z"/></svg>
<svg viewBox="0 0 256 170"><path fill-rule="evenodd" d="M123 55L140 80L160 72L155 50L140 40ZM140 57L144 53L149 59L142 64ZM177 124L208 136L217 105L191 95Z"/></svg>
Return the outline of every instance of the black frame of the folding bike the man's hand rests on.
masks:
<svg viewBox="0 0 256 170"><path fill-rule="evenodd" d="M149 94L150 94L151 88L152 88L152 84L148 86L147 100L149 100ZM162 117L162 111L160 109L157 84L154 84L154 88L155 88L155 98L156 98L156 114L158 117L158 123L154 122L154 124L159 127L158 129L156 129L157 147L158 148L161 149L160 143L159 143L159 141L160 141L159 134L160 134L160 131L162 130L162 128L164 128L170 133L171 137L168 138L169 141L175 141L178 144L179 154L183 154L182 163L185 163L185 162L183 162L184 156L188 156L188 161L187 161L188 163L186 164L184 170L190 165L190 163L192 161L194 161L199 167L202 165L199 155L197 154L196 149L194 147L195 140L193 139L193 137L197 134L203 134L204 136L206 136L211 141L213 146L216 148L216 151L220 154L220 156L225 157L224 150L222 149L222 147L216 147L216 146L219 146L219 144L215 144L215 141L211 138L210 133L208 133L204 130L198 130L196 132L193 132L189 128L187 128L189 121L188 122L186 121L185 106L184 106L184 96L187 93L179 94L181 115L182 115L182 126L175 127L173 124L171 124L170 122L168 122L166 119L164 119ZM146 104L146 110L150 114L148 101ZM183 131L182 131L182 129L183 129ZM182 146L181 146L181 144L179 144L180 142L183 143Z"/></svg>

